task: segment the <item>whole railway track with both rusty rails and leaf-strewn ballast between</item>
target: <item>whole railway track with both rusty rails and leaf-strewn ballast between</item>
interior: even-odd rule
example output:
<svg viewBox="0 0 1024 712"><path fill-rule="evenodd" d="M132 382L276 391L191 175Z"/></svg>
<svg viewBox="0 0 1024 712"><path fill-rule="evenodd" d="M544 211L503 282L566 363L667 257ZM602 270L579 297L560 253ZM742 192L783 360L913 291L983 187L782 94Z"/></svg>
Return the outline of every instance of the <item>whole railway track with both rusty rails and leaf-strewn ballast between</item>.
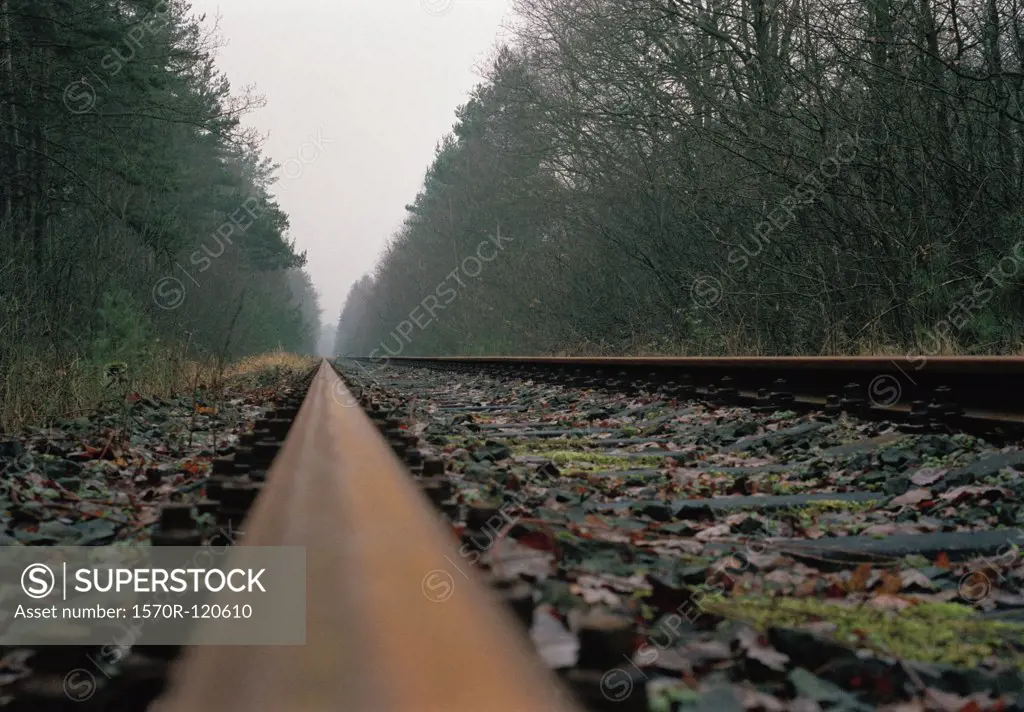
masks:
<svg viewBox="0 0 1024 712"><path fill-rule="evenodd" d="M54 650L10 709L1024 709L1019 360L337 368L198 503L306 547L306 644L139 647L70 705Z"/></svg>

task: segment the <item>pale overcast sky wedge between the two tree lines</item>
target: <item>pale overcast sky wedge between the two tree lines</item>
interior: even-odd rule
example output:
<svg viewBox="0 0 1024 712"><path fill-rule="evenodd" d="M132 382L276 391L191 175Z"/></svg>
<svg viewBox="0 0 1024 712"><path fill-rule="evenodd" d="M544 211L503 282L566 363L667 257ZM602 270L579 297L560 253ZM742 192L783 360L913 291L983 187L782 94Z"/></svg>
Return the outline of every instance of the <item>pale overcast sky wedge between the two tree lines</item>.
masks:
<svg viewBox="0 0 1024 712"><path fill-rule="evenodd" d="M278 196L324 321L401 224L434 146L479 82L509 0L193 0L247 118L283 164ZM319 136L319 138L317 138Z"/></svg>

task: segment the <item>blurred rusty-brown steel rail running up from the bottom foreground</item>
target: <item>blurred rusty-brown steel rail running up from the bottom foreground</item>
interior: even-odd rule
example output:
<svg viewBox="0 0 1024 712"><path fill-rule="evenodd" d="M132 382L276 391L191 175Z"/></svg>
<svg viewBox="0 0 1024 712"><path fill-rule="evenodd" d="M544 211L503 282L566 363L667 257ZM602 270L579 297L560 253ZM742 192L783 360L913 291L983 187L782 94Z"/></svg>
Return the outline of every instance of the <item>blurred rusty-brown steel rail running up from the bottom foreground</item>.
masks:
<svg viewBox="0 0 1024 712"><path fill-rule="evenodd" d="M151 710L578 712L478 580L427 598L456 540L349 399L323 362L239 544L306 547L306 644L187 648Z"/></svg>

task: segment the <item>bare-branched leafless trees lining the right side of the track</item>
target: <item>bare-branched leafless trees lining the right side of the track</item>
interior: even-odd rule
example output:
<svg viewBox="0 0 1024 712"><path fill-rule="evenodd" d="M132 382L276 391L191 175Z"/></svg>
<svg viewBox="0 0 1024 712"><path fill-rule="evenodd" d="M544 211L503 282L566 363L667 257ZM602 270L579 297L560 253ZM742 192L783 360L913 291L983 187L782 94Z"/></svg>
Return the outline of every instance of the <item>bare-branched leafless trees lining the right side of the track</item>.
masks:
<svg viewBox="0 0 1024 712"><path fill-rule="evenodd" d="M514 5L338 353L1020 349L1021 0Z"/></svg>

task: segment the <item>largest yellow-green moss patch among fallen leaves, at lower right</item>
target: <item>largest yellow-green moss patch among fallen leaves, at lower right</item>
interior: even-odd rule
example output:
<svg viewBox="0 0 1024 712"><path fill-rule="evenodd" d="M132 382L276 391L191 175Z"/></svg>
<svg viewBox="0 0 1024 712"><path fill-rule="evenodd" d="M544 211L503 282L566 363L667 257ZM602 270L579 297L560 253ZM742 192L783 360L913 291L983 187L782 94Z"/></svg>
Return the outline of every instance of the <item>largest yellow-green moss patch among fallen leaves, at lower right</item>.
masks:
<svg viewBox="0 0 1024 712"><path fill-rule="evenodd" d="M869 647L903 660L977 667L997 657L1024 669L1015 641L1024 639L1024 624L986 621L958 603L919 603L901 611L869 604L842 605L816 598L709 596L705 609L760 629L797 628L815 621L837 626L838 641Z"/></svg>

